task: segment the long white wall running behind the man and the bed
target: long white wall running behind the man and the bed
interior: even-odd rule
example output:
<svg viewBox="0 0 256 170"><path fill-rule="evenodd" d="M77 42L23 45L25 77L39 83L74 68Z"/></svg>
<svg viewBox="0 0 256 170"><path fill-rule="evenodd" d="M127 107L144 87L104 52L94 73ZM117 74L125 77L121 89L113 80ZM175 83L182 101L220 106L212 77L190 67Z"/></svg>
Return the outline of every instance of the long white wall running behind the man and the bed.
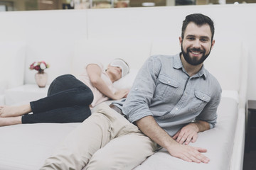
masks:
<svg viewBox="0 0 256 170"><path fill-rule="evenodd" d="M50 72L52 80L59 74L70 72L65 64L61 70L54 66L60 64L61 60L68 63L77 40L165 38L178 45L185 16L189 13L204 13L215 22L216 45L218 42L225 44L239 40L247 44L250 72L247 98L256 99L255 9L256 4L240 4L0 13L0 41L25 40L28 45L26 67L36 60L50 61L51 67L46 72ZM31 77L34 73L30 71L26 75L26 83L33 81Z"/></svg>

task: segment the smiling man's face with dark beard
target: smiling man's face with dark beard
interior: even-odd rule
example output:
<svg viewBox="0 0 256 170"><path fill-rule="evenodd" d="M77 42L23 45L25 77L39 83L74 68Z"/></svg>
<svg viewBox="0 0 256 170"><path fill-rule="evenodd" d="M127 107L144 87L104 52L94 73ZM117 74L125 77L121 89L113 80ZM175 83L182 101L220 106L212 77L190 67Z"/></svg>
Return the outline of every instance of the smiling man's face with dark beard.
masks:
<svg viewBox="0 0 256 170"><path fill-rule="evenodd" d="M205 24L197 26L196 23L188 23L184 32L184 38L179 38L181 44L181 52L188 64L202 64L210 55L215 40L211 41L210 26Z"/></svg>

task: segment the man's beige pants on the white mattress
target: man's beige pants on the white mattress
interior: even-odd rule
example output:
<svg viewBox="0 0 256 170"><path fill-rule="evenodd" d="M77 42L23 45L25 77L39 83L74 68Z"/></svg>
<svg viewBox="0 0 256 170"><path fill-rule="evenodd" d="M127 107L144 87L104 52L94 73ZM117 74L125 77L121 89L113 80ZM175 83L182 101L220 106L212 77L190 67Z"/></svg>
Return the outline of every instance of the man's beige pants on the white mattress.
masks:
<svg viewBox="0 0 256 170"><path fill-rule="evenodd" d="M41 169L133 169L159 149L136 125L102 103Z"/></svg>

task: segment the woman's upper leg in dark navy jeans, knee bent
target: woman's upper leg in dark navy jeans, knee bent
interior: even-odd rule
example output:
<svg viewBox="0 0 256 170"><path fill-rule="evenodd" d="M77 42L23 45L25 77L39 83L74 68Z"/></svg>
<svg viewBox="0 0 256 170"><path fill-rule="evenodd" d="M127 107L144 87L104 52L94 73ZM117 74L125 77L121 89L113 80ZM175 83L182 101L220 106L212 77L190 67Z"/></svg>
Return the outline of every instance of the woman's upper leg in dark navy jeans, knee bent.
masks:
<svg viewBox="0 0 256 170"><path fill-rule="evenodd" d="M93 94L89 87L73 75L66 74L57 77L48 89L48 96L38 101L31 102L34 114L52 111L56 108L72 106L89 106Z"/></svg>

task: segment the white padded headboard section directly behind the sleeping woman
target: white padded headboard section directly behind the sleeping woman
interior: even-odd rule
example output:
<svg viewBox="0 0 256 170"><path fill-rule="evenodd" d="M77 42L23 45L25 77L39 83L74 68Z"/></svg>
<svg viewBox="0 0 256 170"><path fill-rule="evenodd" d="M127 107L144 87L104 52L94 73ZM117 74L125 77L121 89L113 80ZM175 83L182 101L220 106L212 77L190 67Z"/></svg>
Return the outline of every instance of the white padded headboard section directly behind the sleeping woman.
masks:
<svg viewBox="0 0 256 170"><path fill-rule="evenodd" d="M125 60L131 69L139 69L150 55L151 41L140 39L90 39L75 44L72 73L81 74L91 62L105 67L115 58Z"/></svg>

